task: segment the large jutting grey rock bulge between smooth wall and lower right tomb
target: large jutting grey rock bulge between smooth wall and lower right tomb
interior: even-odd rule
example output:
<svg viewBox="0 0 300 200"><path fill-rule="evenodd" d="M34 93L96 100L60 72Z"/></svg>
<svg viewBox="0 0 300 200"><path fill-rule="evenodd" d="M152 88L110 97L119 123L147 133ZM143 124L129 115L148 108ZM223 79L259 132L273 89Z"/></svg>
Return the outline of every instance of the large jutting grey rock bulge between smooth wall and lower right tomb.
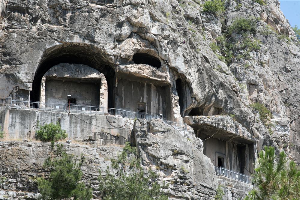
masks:
<svg viewBox="0 0 300 200"><path fill-rule="evenodd" d="M156 169L173 199L211 199L217 184L214 166L203 154L203 143L160 120L136 120L135 143L143 165ZM157 167L155 167L157 166ZM157 169L158 168L158 169Z"/></svg>

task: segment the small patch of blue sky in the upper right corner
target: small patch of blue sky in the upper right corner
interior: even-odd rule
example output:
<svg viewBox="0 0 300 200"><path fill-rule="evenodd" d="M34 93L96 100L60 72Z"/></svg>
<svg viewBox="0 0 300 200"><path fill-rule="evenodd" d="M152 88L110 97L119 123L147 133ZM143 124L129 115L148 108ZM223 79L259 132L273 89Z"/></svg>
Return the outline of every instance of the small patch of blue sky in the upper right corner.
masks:
<svg viewBox="0 0 300 200"><path fill-rule="evenodd" d="M280 9L282 10L289 23L300 28L300 0L279 0Z"/></svg>

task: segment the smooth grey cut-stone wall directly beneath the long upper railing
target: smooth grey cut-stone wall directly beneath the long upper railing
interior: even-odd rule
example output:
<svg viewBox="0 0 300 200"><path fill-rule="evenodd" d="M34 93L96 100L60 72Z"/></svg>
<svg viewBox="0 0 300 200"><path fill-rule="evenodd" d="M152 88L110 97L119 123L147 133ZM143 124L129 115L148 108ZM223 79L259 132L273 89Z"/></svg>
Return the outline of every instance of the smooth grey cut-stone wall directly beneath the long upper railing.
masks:
<svg viewBox="0 0 300 200"><path fill-rule="evenodd" d="M67 131L67 139L97 145L123 145L130 139L133 127L130 119L113 115L10 109L9 106L0 109L0 125L6 140L33 139L38 122L43 125L57 121Z"/></svg>

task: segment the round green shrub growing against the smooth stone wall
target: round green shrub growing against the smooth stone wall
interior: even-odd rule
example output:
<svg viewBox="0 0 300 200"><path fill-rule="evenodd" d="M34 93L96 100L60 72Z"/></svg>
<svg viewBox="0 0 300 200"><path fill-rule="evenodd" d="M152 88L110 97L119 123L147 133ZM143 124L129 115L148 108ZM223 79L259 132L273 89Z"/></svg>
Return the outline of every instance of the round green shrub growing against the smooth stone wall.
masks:
<svg viewBox="0 0 300 200"><path fill-rule="evenodd" d="M58 140L65 139L68 134L66 133L66 130L62 130L59 122L56 124L50 123L45 125L37 124L37 127L39 130L36 131L36 139L42 141L42 142L57 142Z"/></svg>

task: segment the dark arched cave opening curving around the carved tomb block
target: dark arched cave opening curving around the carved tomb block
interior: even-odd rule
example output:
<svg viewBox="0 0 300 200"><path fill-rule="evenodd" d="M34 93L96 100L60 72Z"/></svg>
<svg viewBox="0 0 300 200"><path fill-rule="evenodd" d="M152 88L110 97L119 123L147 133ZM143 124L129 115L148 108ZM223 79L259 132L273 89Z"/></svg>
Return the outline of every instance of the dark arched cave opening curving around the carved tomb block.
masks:
<svg viewBox="0 0 300 200"><path fill-rule="evenodd" d="M83 64L98 70L105 76L107 81L107 106L115 106L115 82L116 76L113 68L107 62L99 60L99 55L85 46L71 45L69 47L62 46L53 47L52 50L43 54L41 62L35 72L32 83L32 91L30 92L30 101L40 101L41 99L41 82L45 73L53 66L67 64ZM36 104L35 104L36 105Z"/></svg>

